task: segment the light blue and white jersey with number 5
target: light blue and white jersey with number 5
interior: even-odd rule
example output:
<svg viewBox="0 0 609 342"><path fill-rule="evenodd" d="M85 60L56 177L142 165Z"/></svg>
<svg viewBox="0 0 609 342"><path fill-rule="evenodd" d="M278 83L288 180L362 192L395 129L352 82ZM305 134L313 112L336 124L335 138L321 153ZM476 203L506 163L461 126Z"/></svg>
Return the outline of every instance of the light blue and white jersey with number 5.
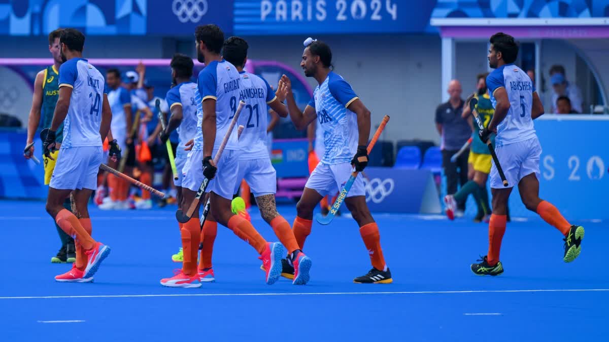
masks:
<svg viewBox="0 0 609 342"><path fill-rule="evenodd" d="M497 146L525 141L535 136L531 110L535 85L529 75L513 64L502 65L487 76L488 93L493 108L497 105L495 91L505 88L510 100L510 110L497 127Z"/></svg>

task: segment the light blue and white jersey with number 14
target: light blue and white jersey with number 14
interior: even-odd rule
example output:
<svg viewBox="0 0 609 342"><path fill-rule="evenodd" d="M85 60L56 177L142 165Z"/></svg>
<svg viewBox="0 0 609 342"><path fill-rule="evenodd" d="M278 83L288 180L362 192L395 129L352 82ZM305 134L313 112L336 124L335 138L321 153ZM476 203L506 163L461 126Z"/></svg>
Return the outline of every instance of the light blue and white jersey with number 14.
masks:
<svg viewBox="0 0 609 342"><path fill-rule="evenodd" d="M62 148L101 146L104 76L85 58L72 58L59 68L59 88L62 86L72 88L68 116L63 121Z"/></svg>

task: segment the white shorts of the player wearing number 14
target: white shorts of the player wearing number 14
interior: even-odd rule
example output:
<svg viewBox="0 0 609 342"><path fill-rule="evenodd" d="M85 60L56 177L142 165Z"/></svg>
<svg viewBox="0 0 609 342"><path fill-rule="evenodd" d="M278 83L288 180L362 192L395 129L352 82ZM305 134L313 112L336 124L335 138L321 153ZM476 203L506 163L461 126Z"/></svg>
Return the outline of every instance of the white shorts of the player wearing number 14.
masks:
<svg viewBox="0 0 609 342"><path fill-rule="evenodd" d="M97 189L102 147L62 147L60 152L49 186L58 190Z"/></svg>

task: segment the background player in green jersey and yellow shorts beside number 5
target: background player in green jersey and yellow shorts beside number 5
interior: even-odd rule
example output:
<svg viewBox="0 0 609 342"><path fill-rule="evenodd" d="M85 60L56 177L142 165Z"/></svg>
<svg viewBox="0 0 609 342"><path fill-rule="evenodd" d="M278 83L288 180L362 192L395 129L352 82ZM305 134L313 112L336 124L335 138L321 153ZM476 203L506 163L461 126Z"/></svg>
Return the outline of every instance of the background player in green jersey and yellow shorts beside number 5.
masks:
<svg viewBox="0 0 609 342"><path fill-rule="evenodd" d="M490 96L487 90L487 78L488 74L477 75L477 91L472 94L465 101L463 106L463 118L468 118L471 123L471 111L470 111L470 99L475 98L478 100L476 105L476 111L480 115L480 118L484 124L484 127L488 126L488 123L493 118L495 109L493 103L491 103ZM491 171L491 155L488 151L488 147L478 137L477 127L473 128L473 134L471 139L470 156L468 157L468 164L470 166L470 181L465 183L459 191L454 195L446 195L444 202L446 204L446 215L451 220L454 219L454 211L456 210L457 203L459 201L465 201L468 195L472 194L476 199L478 206L478 214L474 219L476 222L481 222L485 217L490 217L491 210L488 206L488 191L487 191L487 179L488 173ZM491 141L495 145L495 134L492 134Z"/></svg>

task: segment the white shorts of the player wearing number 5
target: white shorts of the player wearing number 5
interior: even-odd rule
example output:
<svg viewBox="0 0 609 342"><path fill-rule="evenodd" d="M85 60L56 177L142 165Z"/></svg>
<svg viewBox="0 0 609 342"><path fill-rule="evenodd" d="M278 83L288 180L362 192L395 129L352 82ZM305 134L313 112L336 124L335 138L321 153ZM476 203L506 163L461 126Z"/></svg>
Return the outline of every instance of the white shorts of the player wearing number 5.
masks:
<svg viewBox="0 0 609 342"><path fill-rule="evenodd" d="M541 156L541 145L537 136L530 138L525 141L515 142L509 145L495 147L495 153L499 164L505 174L507 180L507 187L515 187L518 185L524 176L528 176L531 173L537 175L537 179L540 176L539 170L539 159ZM497 172L495 161L491 166L491 188L492 189L504 189L503 183L501 183L501 177Z"/></svg>

